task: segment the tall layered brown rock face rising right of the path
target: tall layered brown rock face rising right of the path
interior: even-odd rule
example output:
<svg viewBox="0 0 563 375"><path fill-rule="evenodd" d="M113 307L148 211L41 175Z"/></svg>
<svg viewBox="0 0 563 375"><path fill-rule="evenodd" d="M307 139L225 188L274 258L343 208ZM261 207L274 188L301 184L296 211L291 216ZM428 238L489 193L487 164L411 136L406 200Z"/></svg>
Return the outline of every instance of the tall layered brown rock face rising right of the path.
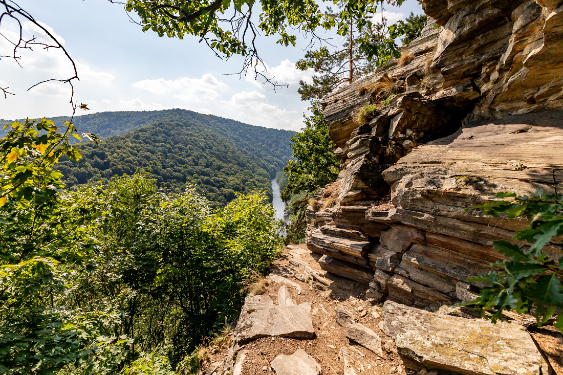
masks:
<svg viewBox="0 0 563 375"><path fill-rule="evenodd" d="M422 4L401 60L323 100L341 172L307 209L307 246L368 298L427 308L471 300L493 241L527 226L464 209L563 192L563 1Z"/></svg>

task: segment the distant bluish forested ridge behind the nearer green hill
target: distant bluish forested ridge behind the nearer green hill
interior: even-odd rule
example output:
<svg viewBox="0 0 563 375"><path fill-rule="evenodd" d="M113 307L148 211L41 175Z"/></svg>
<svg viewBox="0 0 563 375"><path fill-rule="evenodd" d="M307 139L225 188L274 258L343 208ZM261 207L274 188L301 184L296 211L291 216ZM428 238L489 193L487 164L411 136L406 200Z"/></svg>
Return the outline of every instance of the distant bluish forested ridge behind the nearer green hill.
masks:
<svg viewBox="0 0 563 375"><path fill-rule="evenodd" d="M292 158L289 138L296 132L253 126L236 120L179 108L160 111L93 113L77 116L73 122L79 130L95 133L101 139L105 139L110 136L126 134L142 126L171 117L207 127L213 132L235 142L239 149L244 149L269 164L271 167L266 168L266 170L271 178L275 178L276 171L282 169L287 160ZM61 121L68 121L70 117L60 116L50 119L59 125ZM8 120L5 120L3 123L6 122ZM4 135L5 131L0 127L0 136ZM73 138L69 141L74 142L77 140Z"/></svg>

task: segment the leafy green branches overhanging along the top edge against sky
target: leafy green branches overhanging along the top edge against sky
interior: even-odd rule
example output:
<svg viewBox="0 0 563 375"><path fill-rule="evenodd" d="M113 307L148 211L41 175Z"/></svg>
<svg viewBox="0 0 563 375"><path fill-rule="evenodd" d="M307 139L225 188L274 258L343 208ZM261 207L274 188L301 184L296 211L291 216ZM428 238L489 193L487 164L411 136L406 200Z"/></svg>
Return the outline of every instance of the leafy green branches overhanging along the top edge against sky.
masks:
<svg viewBox="0 0 563 375"><path fill-rule="evenodd" d="M333 0L324 0L323 3L325 1L337 3ZM395 0L393 3L400 5L403 1ZM185 35L194 35L204 39L217 55L256 57L257 51L251 35L276 34L279 37L276 43L295 46L296 35L292 34L294 30L310 33L317 28L336 28L339 35L347 35L350 24L360 31L370 30L373 26L372 16L378 5L382 6L381 0L348 0L342 2L338 17L323 11L312 0L261 0L256 3L242 0L128 0L126 9L138 14L143 31L153 30L160 37L167 35L180 39ZM253 23L251 10L259 9L261 13L256 25ZM233 19L229 21L231 16ZM241 28L239 21L234 21L239 17L247 25L246 28ZM395 30L392 31L396 33ZM378 47L365 41L363 48L368 56L373 57L374 50Z"/></svg>

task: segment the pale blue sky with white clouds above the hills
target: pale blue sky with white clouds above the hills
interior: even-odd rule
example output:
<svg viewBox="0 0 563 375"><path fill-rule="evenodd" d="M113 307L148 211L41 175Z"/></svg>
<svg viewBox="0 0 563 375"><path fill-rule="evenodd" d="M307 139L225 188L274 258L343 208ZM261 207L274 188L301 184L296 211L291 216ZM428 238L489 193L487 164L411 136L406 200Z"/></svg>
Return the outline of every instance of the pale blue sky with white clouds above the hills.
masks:
<svg viewBox="0 0 563 375"><path fill-rule="evenodd" d="M257 126L298 131L310 103L297 93L300 79L310 82L312 72L301 72L294 63L305 53L307 41L298 36L297 47L282 47L277 38L259 37L258 48L267 75L287 83L277 88L237 73L242 57L218 59L198 38L160 38L142 32L131 23L123 6L106 0L16 0L47 29L52 30L77 64L80 81L74 81L74 99L88 105L88 113L183 108L239 120ZM400 8L386 6L388 21L404 19L422 8L407 0ZM14 37L15 25L3 21L0 31ZM34 25L24 32L44 38ZM10 44L0 37L0 55ZM55 82L33 84L50 78L72 77L72 68L61 50L21 52L20 66L0 60L0 119L55 117L72 114L69 87ZM82 112L79 114L83 114Z"/></svg>

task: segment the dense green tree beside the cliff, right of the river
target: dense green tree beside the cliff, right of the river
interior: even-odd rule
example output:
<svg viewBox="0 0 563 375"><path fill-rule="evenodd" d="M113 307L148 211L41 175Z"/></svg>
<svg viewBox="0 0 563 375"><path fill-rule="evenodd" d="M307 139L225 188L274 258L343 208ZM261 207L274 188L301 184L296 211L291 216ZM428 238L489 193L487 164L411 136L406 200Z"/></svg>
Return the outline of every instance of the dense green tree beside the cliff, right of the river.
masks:
<svg viewBox="0 0 563 375"><path fill-rule="evenodd" d="M284 168L288 181L282 194L283 199L290 193L313 193L319 187L336 180L338 175L339 162L334 155L336 146L328 135L320 102L311 102L310 110L310 117L303 116L305 127L302 132L291 138L295 160L289 160Z"/></svg>

